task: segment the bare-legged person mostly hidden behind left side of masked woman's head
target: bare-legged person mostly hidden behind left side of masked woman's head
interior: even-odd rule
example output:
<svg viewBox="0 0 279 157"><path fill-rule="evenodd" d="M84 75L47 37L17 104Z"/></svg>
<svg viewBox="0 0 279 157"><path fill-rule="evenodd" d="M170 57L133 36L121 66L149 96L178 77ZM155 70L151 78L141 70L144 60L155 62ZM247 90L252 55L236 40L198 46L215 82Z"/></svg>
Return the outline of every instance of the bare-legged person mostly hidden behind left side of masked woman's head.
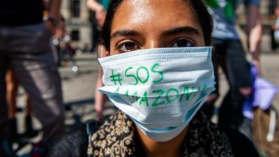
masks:
<svg viewBox="0 0 279 157"><path fill-rule="evenodd" d="M93 45L98 45L98 57L105 57L107 55L107 50L105 49L105 46L102 43L98 43L98 40L100 35L100 28L103 27L103 24L105 22L105 16L107 14L107 8L109 4L110 0L102 0L99 2L96 0L87 0L87 7L90 10L92 10L96 15L96 21L93 22L93 38L95 38L95 40L93 40ZM96 26L98 26L99 29L96 29ZM98 91L99 87L103 87L102 76L103 70L102 68L100 68L100 66L98 66L98 77L95 89L95 111L97 113L96 118L98 121L103 119L103 112L105 108L105 103L107 101L107 96L101 94L100 91Z"/></svg>

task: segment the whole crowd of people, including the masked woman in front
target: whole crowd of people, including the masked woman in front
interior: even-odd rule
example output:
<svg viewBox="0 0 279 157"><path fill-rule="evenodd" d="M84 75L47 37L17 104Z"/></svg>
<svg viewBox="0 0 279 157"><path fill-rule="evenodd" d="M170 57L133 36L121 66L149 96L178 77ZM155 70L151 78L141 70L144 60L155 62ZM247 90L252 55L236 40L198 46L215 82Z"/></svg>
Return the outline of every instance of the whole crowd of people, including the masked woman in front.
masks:
<svg viewBox="0 0 279 157"><path fill-rule="evenodd" d="M17 156L19 85L26 91L24 136L43 133L29 156L279 155L259 146L253 117L244 112L253 110L255 78L262 75L260 0L86 0L99 63L97 117L70 133L58 71L59 52L71 50L61 0L14 3L0 6L0 156ZM241 4L250 62L236 30ZM278 40L278 20L273 29ZM220 71L229 91L213 124ZM119 111L100 123L107 100ZM33 128L33 116L41 130Z"/></svg>

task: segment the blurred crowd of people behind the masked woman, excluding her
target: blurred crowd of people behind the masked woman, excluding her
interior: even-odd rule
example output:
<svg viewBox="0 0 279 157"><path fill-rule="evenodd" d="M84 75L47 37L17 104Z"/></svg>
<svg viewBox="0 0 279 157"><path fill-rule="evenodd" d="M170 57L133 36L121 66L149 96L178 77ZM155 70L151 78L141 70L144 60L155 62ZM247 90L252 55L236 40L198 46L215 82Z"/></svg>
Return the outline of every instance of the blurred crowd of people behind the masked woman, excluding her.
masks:
<svg viewBox="0 0 279 157"><path fill-rule="evenodd" d="M91 47L86 45L84 50L96 52L99 58L107 57L110 52L105 45L102 28L106 24L105 19L111 1L84 1L93 15L92 44ZM213 33L209 38L213 46L216 90L206 97L200 110L209 119L218 110L218 127L227 134L234 156L279 156L278 114L271 104L278 89L264 80L260 63L262 38L260 1L204 0L204 3L213 17ZM241 3L246 5L247 40L244 42L236 30L238 16L235 12ZM54 144L66 134L59 67L70 63L72 70L78 73L79 66L75 61L77 48L71 43L67 21L60 10L61 0L1 2L1 157L18 156L17 151L26 144L32 144L31 152L26 156L47 156L49 152L53 153ZM273 39L271 42L273 50L276 51L279 45L279 7L274 7L273 11L275 18L271 26ZM244 46L248 47L249 55L252 56L251 61L246 59ZM104 121L103 112L108 100L105 94L98 91L99 87L104 86L103 73L99 66L94 96L96 121ZM220 108L216 109L216 100L220 96L218 84L220 73L225 74L229 91L225 94ZM24 88L24 101L27 105L27 114L24 117L26 129L22 134L17 133L15 116L18 111L17 94L20 86ZM42 124L40 130L34 128L33 117ZM263 125L263 121L267 125ZM29 140L39 133L43 133L40 141Z"/></svg>

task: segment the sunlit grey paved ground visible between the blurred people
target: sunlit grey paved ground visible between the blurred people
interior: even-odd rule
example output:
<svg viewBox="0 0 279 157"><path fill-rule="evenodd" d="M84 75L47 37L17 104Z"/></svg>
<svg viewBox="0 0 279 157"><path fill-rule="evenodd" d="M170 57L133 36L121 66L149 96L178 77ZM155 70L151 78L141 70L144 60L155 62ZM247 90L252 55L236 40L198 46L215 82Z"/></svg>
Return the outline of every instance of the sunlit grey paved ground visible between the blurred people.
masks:
<svg viewBox="0 0 279 157"><path fill-rule="evenodd" d="M262 55L262 73L264 77L273 84L276 84L279 87L279 54L275 53L265 53ZM96 61L95 54L80 54L77 55L77 65L80 68L80 74L74 73L70 64L60 68L61 79L63 82L63 98L66 105L66 124L72 128L73 125L80 125L88 119L94 119L96 114L93 110L94 105L94 90L95 82L98 72L98 63ZM217 102L217 106L220 103L220 100L223 97L223 94L227 91L227 84L225 82L224 76L221 75L221 96ZM22 90L19 95L19 105L23 106L24 101L22 99ZM279 108L279 94L273 100L273 104ZM69 110L70 109L70 110ZM115 111L115 108L111 103L108 103L105 115L112 114ZM17 117L20 121L18 124L19 131L24 131L23 112L17 114ZM213 121L216 121L216 117L213 118ZM40 128L40 123L34 119L34 124L36 128ZM37 137L38 140L40 136ZM28 150L24 149L23 152Z"/></svg>

